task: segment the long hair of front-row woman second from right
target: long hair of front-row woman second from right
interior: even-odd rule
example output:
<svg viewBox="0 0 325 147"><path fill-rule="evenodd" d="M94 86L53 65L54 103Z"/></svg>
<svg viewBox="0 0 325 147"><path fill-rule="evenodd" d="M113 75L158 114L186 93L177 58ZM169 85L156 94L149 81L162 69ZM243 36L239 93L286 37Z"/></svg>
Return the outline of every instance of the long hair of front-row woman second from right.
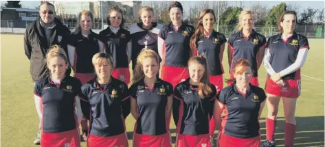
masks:
<svg viewBox="0 0 325 147"><path fill-rule="evenodd" d="M200 64L201 66L204 67L203 77L199 83L199 96L200 98L205 98L206 96L210 96L210 94L212 93L212 88L210 87L211 85L210 74L209 74L207 59L201 56L191 57L188 60L188 67L190 67L191 64Z"/></svg>

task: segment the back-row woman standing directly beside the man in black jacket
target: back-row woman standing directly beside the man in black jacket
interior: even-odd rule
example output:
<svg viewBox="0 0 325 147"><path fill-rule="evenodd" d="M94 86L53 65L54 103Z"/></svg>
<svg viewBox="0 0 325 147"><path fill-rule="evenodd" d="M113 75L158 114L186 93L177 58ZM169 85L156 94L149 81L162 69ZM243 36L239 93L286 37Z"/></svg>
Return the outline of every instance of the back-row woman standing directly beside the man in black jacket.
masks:
<svg viewBox="0 0 325 147"><path fill-rule="evenodd" d="M68 44L69 62L74 70L74 77L85 84L95 77L91 58L98 52L104 51L104 42L98 34L91 31L93 14L89 10L82 10L78 15L76 30L70 36ZM82 141L87 141L87 118L82 117L80 122Z"/></svg>

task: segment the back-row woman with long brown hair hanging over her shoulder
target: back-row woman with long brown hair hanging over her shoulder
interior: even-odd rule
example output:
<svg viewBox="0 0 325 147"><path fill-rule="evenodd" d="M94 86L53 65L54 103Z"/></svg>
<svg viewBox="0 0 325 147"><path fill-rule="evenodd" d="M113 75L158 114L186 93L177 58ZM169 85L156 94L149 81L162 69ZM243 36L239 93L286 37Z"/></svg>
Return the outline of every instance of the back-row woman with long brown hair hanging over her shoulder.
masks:
<svg viewBox="0 0 325 147"><path fill-rule="evenodd" d="M227 39L214 31L216 16L212 9L203 10L197 23L197 28L191 38L192 55L206 58L210 71L210 82L216 86L216 93L223 89L223 51ZM213 111L212 105L212 111ZM214 119L210 121L210 135L213 137L216 125Z"/></svg>

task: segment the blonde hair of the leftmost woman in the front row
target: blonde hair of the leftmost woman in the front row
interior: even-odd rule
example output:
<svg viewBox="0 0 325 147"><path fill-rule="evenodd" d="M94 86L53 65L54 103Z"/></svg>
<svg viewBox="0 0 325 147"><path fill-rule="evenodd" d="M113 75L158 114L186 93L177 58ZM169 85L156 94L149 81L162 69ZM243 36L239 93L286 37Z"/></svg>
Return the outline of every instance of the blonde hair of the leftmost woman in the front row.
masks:
<svg viewBox="0 0 325 147"><path fill-rule="evenodd" d="M50 46L49 50L46 53L45 62L47 66L49 66L49 59L52 59L53 57L61 57L65 60L65 64L69 64L67 54L65 53L65 51L62 51L62 49L60 49L60 46L56 44Z"/></svg>

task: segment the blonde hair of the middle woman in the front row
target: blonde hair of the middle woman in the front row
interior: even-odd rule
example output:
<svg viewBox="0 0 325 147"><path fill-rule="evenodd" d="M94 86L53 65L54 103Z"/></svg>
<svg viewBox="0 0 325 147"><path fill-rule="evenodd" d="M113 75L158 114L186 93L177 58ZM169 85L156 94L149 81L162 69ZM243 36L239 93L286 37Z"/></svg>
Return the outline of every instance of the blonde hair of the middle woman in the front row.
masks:
<svg viewBox="0 0 325 147"><path fill-rule="evenodd" d="M146 58L155 59L159 66L159 56L157 53L151 49L142 49L142 51L137 56L137 64L135 65L135 69L133 70L133 79L132 83L137 83L141 79L144 78L144 71L142 70L142 63ZM158 73L157 73L158 74Z"/></svg>

